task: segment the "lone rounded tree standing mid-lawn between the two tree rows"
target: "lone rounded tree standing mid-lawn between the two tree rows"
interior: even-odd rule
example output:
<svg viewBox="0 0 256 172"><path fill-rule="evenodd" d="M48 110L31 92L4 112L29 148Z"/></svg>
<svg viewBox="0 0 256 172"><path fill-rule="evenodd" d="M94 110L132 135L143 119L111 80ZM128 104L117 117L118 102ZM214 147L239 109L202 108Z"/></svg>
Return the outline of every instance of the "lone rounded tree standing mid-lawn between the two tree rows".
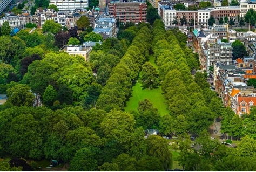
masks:
<svg viewBox="0 0 256 172"><path fill-rule="evenodd" d="M146 86L147 88L153 88L159 85L159 75L157 73L156 68L149 63L146 62L142 65L142 78L140 79L142 82L142 86Z"/></svg>

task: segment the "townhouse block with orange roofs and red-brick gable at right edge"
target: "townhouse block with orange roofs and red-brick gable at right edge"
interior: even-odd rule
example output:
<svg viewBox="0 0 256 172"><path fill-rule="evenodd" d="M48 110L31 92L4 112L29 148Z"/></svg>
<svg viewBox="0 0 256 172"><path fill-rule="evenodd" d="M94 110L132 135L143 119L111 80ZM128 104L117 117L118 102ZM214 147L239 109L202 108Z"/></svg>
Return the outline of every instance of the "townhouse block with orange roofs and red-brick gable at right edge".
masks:
<svg viewBox="0 0 256 172"><path fill-rule="evenodd" d="M256 90L247 85L247 80L256 79L256 58L238 58L232 65L217 62L214 64L214 86L225 107L231 107L235 114L242 117L256 106Z"/></svg>

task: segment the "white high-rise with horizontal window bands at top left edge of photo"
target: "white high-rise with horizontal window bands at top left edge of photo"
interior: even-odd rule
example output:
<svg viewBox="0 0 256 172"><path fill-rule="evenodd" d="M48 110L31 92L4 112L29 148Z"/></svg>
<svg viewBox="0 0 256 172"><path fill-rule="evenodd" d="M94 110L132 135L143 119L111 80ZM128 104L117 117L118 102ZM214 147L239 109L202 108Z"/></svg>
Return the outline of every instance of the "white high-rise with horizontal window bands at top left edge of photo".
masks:
<svg viewBox="0 0 256 172"><path fill-rule="evenodd" d="M87 0L51 0L50 5L57 6L59 11L84 9L88 7Z"/></svg>

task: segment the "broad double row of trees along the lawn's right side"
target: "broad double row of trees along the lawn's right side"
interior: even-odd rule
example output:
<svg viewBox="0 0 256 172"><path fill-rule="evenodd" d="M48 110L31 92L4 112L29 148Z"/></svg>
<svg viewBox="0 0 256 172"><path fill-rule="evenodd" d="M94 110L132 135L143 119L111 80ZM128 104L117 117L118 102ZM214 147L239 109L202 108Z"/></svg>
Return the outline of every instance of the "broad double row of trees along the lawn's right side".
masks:
<svg viewBox="0 0 256 172"><path fill-rule="evenodd" d="M221 102L215 98L215 92L208 89L210 85L202 73L197 72L195 79L192 78L190 71L198 64L195 54L186 47L186 39L183 39L186 36L177 30L166 32L160 20L155 23L158 24L153 31L153 42L156 43L153 51L159 66L162 90L169 105L169 118L179 121L177 128L171 132L177 135L188 131L199 134L218 117L209 105L221 106Z"/></svg>

